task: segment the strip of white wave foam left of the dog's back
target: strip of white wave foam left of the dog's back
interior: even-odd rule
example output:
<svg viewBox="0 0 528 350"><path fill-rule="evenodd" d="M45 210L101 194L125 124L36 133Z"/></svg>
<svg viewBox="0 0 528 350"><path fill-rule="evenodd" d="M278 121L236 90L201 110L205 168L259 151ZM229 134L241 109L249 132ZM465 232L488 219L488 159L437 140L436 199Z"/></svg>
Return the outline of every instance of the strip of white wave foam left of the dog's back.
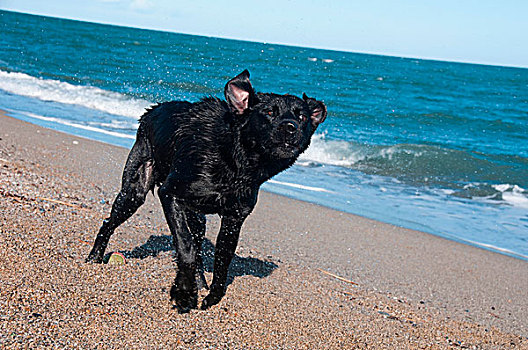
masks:
<svg viewBox="0 0 528 350"><path fill-rule="evenodd" d="M43 101L79 105L106 113L139 118L151 102L93 86L0 70L0 89Z"/></svg>

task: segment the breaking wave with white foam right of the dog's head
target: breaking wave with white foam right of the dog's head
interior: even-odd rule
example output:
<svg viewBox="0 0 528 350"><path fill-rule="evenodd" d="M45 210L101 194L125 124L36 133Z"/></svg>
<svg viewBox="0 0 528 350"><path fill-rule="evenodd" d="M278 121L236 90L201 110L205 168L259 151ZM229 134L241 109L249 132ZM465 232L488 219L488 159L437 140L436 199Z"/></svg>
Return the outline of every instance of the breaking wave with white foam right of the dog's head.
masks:
<svg viewBox="0 0 528 350"><path fill-rule="evenodd" d="M329 140L318 134L298 165L321 164L398 179L413 186L441 188L444 193L528 208L528 159L484 155L436 145L369 145ZM524 175L523 175L524 174Z"/></svg>

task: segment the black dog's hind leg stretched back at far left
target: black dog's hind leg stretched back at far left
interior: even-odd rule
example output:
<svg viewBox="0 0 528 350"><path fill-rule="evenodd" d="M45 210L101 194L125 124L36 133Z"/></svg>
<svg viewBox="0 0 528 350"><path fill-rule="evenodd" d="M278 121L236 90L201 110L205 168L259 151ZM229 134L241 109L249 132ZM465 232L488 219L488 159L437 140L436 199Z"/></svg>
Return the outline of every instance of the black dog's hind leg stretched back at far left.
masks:
<svg viewBox="0 0 528 350"><path fill-rule="evenodd" d="M110 236L145 202L154 186L152 150L148 140L138 132L123 171L121 191L117 195L110 217L103 221L87 262L101 263Z"/></svg>

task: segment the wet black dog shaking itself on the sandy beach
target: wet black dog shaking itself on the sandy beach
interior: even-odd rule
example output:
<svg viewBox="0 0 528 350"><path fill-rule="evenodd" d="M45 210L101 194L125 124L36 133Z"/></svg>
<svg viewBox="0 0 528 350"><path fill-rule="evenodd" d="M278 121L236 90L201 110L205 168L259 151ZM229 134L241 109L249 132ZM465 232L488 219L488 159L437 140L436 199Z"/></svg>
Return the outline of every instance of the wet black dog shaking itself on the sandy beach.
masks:
<svg viewBox="0 0 528 350"><path fill-rule="evenodd" d="M178 265L170 294L181 312L196 308L198 288L207 288L201 258L205 214L219 214L222 222L202 309L225 294L240 228L260 185L295 162L326 118L325 105L304 94L255 93L247 70L226 84L224 94L227 102L165 102L141 117L121 192L86 259L102 262L114 230L159 186Z"/></svg>

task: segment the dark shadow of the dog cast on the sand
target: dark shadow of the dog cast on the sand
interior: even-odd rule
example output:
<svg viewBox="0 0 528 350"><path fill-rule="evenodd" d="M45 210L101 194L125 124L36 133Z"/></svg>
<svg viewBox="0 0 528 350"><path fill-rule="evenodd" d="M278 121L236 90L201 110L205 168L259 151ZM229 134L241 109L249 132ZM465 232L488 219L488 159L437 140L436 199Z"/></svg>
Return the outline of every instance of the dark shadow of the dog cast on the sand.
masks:
<svg viewBox="0 0 528 350"><path fill-rule="evenodd" d="M127 259L145 259L146 257L156 257L161 252L172 251L172 236L150 236L143 245L132 249L131 251L122 252ZM204 270L213 272L215 247L209 239L204 239L202 245L202 259ZM176 264L174 265L176 267ZM233 282L235 277L255 276L259 278L269 276L273 270L278 267L277 264L270 261L263 261L252 257L241 257L235 255L231 266L227 285Z"/></svg>

